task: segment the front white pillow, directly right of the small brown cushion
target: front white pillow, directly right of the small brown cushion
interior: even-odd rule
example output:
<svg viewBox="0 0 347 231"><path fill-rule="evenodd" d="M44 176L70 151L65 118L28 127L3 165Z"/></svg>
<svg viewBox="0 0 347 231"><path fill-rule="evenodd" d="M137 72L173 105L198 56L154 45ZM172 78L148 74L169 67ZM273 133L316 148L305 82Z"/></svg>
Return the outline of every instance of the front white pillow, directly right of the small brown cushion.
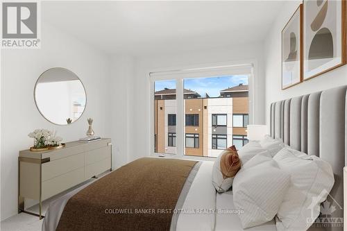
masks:
<svg viewBox="0 0 347 231"><path fill-rule="evenodd" d="M255 155L236 174L232 183L234 204L243 228L271 221L289 187L290 176L272 157Z"/></svg>

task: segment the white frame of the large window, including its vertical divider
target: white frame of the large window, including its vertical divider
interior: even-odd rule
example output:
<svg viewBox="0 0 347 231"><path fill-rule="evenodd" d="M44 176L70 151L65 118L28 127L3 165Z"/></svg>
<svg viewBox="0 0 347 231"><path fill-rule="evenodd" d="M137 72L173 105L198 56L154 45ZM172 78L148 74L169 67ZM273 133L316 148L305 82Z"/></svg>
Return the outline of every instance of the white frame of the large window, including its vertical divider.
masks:
<svg viewBox="0 0 347 231"><path fill-rule="evenodd" d="M248 76L248 123L253 123L254 89L253 83L258 76L258 61L256 59L235 60L232 62L212 62L203 65L184 65L167 68L147 69L149 85L149 132L151 144L148 146L150 155L164 156L190 160L211 160L211 157L185 155L185 103L183 92L183 79L208 78L215 76L247 75ZM176 80L176 154L154 152L154 85L159 80ZM158 137L157 137L158 139Z"/></svg>

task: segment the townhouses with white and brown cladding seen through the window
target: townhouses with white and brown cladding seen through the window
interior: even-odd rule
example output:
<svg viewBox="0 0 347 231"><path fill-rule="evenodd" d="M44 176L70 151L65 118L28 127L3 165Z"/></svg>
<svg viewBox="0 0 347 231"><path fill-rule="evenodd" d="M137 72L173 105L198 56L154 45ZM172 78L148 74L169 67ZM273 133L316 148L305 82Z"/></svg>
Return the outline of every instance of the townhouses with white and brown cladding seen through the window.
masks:
<svg viewBox="0 0 347 231"><path fill-rule="evenodd" d="M217 157L228 146L248 142L248 85L201 98L184 90L185 155ZM155 92L155 152L176 153L176 89Z"/></svg>

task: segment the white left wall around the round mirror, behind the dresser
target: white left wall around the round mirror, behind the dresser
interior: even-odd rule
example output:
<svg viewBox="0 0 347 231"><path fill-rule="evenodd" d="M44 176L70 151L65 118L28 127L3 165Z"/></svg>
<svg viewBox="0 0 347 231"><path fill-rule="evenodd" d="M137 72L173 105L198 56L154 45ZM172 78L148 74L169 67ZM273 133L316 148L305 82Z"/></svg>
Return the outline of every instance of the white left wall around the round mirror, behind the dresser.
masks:
<svg viewBox="0 0 347 231"><path fill-rule="evenodd" d="M51 67L65 67L81 78L87 107L70 126L54 126L38 112L33 99L37 78ZM42 24L41 49L1 52L1 220L17 213L18 151L32 146L35 128L58 130L65 142L85 137L87 117L96 135L108 136L108 57L87 44Z"/></svg>

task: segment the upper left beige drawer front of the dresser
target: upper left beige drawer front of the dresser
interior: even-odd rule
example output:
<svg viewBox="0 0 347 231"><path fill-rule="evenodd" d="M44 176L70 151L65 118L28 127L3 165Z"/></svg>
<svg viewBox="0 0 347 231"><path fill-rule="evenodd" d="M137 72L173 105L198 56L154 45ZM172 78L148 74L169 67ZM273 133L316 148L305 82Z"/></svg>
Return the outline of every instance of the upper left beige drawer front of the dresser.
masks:
<svg viewBox="0 0 347 231"><path fill-rule="evenodd" d="M84 159L85 153L80 153L42 164L42 181L55 178L56 176L83 167L85 164Z"/></svg>

